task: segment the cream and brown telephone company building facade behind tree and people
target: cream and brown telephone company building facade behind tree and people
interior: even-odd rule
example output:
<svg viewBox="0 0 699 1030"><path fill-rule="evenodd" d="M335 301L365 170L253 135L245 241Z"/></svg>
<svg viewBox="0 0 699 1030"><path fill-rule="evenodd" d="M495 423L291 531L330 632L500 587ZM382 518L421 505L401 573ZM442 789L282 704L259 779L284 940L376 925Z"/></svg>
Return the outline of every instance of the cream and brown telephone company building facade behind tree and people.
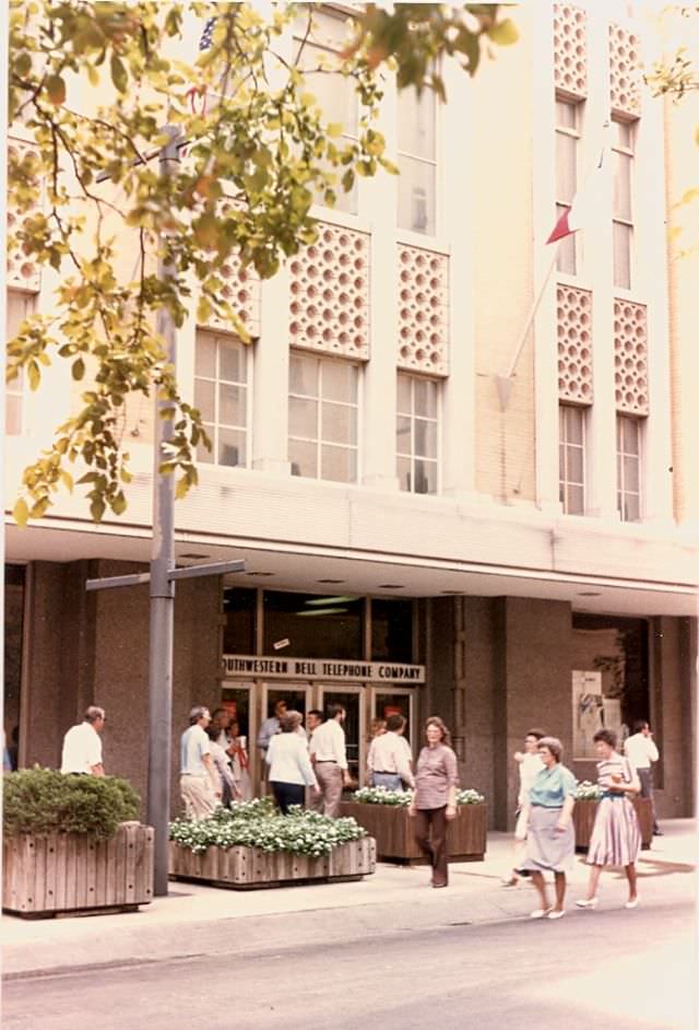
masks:
<svg viewBox="0 0 699 1030"><path fill-rule="evenodd" d="M332 51L343 14L318 7L313 45ZM450 69L443 106L387 90L400 177L318 207L317 243L273 280L232 265L250 346L193 316L178 336L213 441L177 505L178 563L246 569L177 587L174 724L228 706L258 781L280 697L346 705L359 780L372 718L402 711L416 751L440 714L463 785L505 828L530 727L559 736L582 780L595 728L650 718L659 811L692 811L694 299L665 232L685 137L643 85L626 8L519 10L520 42L473 81ZM324 103L352 134L347 90L329 77ZM584 230L547 246L592 182ZM10 329L49 308L51 279L11 256ZM12 387L8 498L75 388L57 367L39 395ZM84 589L149 560L145 402L123 432L125 516L95 527L67 495L8 526L5 728L21 763L55 765L66 728L103 704L107 768L143 789L147 588Z"/></svg>

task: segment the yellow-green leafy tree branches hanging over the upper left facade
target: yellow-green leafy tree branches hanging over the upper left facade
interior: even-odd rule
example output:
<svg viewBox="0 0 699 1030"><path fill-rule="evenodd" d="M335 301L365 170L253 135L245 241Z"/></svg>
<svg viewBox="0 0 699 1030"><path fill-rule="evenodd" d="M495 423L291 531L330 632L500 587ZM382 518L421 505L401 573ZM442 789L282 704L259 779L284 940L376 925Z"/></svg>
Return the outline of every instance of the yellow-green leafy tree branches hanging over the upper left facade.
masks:
<svg viewBox="0 0 699 1030"><path fill-rule="evenodd" d="M25 470L19 523L72 489L73 467L95 520L125 511L131 394L157 396L171 421L161 470L178 477L178 495L196 483L196 448L209 441L167 363L158 314L181 326L194 306L200 323L214 314L247 341L223 296L223 269L239 259L274 276L315 241L316 200L332 207L356 176L396 171L376 129L387 75L446 98L445 59L474 74L484 49L517 38L497 4L403 3L391 13L368 4L344 49L317 59L312 7L270 4L265 17L248 3L11 0L10 120L34 145L10 160L20 220L9 246L55 269L60 284L50 311L9 342L8 377L24 368L37 388L58 356L88 387ZM188 15L200 32L212 20L211 46L197 58L197 40L183 39ZM354 139L316 100L313 83L328 74L356 92ZM154 160L171 138L166 125L187 142L169 175ZM125 253L134 256L126 272Z"/></svg>

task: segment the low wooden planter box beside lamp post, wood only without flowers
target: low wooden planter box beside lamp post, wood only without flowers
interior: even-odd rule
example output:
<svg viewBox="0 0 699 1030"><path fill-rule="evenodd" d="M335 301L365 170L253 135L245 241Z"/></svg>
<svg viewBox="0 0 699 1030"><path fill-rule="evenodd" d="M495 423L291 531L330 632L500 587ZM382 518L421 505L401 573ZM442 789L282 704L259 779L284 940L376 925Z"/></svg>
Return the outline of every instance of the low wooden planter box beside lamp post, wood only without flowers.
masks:
<svg viewBox="0 0 699 1030"><path fill-rule="evenodd" d="M204 880L213 887L249 890L291 887L319 880L360 880L376 870L376 842L369 836L333 847L330 855L310 858L260 847L208 847L194 855L170 841L170 876Z"/></svg>

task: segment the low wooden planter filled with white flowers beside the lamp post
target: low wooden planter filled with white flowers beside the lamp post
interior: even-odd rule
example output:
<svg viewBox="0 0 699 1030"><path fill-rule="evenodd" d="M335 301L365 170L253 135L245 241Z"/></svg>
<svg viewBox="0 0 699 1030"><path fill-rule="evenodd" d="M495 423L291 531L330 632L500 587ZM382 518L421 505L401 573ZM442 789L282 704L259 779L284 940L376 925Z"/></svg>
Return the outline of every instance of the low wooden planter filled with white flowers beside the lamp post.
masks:
<svg viewBox="0 0 699 1030"><path fill-rule="evenodd" d="M280 816L269 799L170 823L170 875L183 879L244 889L359 879L375 868L374 841L354 819L300 808Z"/></svg>

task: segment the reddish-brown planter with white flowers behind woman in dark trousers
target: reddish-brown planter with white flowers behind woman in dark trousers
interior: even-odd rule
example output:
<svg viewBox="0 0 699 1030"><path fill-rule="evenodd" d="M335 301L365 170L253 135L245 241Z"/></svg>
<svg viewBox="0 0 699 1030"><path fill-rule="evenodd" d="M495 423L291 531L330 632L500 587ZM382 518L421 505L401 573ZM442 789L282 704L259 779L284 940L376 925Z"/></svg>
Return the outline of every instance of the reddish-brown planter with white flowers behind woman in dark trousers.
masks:
<svg viewBox="0 0 699 1030"><path fill-rule="evenodd" d="M415 843L413 820L407 814L412 792L363 787L342 814L353 816L376 839L379 858L396 862L424 862ZM457 818L447 830L451 862L478 862L485 855L487 806L477 791L457 792Z"/></svg>

